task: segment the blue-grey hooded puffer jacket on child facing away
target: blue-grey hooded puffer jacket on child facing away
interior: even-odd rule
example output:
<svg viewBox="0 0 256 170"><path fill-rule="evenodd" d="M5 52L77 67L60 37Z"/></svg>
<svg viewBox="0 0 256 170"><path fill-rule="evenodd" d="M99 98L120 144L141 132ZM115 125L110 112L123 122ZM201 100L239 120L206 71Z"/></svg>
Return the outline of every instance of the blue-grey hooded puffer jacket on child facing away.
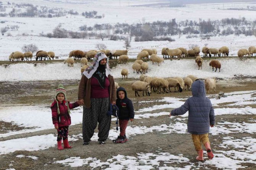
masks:
<svg viewBox="0 0 256 170"><path fill-rule="evenodd" d="M215 124L215 115L212 103L206 97L204 82L197 80L192 83L192 97L185 103L171 111L171 115L182 115L188 111L188 133L209 133L209 126Z"/></svg>

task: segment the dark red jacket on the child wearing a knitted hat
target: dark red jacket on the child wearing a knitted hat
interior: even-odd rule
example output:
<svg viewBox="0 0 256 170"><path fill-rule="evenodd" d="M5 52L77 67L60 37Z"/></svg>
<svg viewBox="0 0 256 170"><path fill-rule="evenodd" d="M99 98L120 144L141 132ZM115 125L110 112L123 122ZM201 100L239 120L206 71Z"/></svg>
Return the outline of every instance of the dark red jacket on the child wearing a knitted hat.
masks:
<svg viewBox="0 0 256 170"><path fill-rule="evenodd" d="M56 100L53 101L51 105L51 109L52 109L52 123L54 124L54 126L64 127L64 126L71 125L71 117L68 114L68 107L70 109L74 109L75 107L78 107L79 104L77 101L75 103L70 103L68 101L68 107L66 106L66 104L67 103L65 100L63 100L62 103L58 102L59 109L60 109L60 114L58 115L57 101Z"/></svg>

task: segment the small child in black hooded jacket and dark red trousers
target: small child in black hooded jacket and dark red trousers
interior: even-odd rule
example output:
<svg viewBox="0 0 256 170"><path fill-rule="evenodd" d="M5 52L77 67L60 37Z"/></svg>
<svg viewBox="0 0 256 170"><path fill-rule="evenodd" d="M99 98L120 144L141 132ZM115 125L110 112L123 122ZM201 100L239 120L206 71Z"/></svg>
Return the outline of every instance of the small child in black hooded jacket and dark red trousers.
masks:
<svg viewBox="0 0 256 170"><path fill-rule="evenodd" d="M117 89L117 100L116 105L119 109L119 126L120 126L120 135L116 140L113 140L113 143L125 143L128 141L125 135L125 130L128 125L129 119L131 122L134 119L134 109L133 103L130 99L127 98L127 93L125 88L119 87Z"/></svg>

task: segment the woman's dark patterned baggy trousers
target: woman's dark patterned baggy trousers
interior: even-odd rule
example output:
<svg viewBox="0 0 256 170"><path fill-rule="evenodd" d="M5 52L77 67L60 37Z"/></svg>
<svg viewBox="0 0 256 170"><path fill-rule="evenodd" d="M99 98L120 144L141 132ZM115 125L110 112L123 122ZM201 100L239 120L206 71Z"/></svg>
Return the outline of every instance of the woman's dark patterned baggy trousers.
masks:
<svg viewBox="0 0 256 170"><path fill-rule="evenodd" d="M111 116L107 115L109 98L91 98L91 107L83 107L83 140L91 141L98 126L98 141L105 141L109 136Z"/></svg>

